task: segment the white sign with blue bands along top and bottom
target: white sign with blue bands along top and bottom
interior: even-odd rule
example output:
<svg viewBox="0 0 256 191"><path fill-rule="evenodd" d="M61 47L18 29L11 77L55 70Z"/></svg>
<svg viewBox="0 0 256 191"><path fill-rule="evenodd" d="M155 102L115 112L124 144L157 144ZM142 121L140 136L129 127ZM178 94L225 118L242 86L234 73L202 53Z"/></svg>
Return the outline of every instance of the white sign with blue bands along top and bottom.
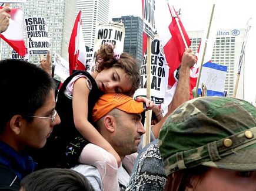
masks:
<svg viewBox="0 0 256 191"><path fill-rule="evenodd" d="M227 69L227 66L211 62L202 65L199 84L204 83L207 87L207 95L205 96L224 96ZM201 88L198 88L198 94L201 94Z"/></svg>

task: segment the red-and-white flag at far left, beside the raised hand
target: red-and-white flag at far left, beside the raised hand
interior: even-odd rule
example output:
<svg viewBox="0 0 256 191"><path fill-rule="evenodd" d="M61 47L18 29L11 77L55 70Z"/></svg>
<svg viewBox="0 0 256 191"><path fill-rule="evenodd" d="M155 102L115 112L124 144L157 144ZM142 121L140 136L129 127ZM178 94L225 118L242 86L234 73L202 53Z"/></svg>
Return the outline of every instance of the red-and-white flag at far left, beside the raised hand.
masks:
<svg viewBox="0 0 256 191"><path fill-rule="evenodd" d="M0 9L2 9L2 7L0 7ZM10 15L9 26L5 32L0 34L0 37L5 40L19 56L24 56L26 53L24 38L22 36L24 12L21 11L21 9L11 9Z"/></svg>

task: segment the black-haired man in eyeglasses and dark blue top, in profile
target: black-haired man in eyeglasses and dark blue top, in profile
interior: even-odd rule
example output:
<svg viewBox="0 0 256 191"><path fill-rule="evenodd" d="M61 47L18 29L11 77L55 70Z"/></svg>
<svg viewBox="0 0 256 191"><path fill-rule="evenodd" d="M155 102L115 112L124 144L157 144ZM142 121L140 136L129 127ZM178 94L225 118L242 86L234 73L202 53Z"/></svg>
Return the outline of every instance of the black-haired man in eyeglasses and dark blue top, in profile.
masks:
<svg viewBox="0 0 256 191"><path fill-rule="evenodd" d="M21 60L0 61L0 190L19 190L36 163L28 148L42 148L54 125L55 85L44 70Z"/></svg>

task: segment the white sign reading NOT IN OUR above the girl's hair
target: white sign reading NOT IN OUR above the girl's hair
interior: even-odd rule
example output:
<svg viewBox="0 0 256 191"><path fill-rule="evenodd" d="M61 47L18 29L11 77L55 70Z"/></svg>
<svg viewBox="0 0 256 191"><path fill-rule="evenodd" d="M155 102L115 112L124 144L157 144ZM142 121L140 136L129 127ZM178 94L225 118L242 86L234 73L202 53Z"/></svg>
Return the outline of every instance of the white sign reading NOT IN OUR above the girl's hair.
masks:
<svg viewBox="0 0 256 191"><path fill-rule="evenodd" d="M122 53L124 51L124 37L124 23L99 23L96 29L94 51L97 52L104 43L112 43L115 45L116 51Z"/></svg>

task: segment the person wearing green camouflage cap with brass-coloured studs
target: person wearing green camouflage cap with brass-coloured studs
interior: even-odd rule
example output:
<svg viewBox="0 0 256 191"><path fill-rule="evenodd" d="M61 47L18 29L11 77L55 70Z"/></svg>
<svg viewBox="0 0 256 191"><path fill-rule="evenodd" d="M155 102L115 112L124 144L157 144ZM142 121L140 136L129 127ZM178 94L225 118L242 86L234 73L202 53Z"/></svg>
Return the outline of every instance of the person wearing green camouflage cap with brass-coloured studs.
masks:
<svg viewBox="0 0 256 191"><path fill-rule="evenodd" d="M165 121L159 150L166 190L256 190L256 108L227 97L187 101Z"/></svg>

